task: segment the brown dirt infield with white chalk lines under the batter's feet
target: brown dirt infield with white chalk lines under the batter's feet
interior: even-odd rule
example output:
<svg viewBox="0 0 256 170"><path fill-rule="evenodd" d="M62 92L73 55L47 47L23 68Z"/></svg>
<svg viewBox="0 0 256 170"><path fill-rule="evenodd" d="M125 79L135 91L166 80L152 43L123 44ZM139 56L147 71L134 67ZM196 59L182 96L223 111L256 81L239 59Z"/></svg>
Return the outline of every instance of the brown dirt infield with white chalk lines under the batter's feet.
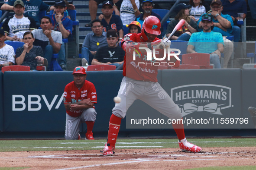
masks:
<svg viewBox="0 0 256 170"><path fill-rule="evenodd" d="M173 169L211 166L256 166L256 147L203 148L201 153L169 149L117 149L112 157L99 150L0 152L0 167L36 170Z"/></svg>

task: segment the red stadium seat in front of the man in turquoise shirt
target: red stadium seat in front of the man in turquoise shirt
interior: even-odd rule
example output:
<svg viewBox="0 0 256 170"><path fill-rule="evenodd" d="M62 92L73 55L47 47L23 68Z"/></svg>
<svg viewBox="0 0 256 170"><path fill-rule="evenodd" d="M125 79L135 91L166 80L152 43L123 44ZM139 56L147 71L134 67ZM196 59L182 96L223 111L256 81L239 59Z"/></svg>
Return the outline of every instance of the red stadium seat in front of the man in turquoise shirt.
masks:
<svg viewBox="0 0 256 170"><path fill-rule="evenodd" d="M207 53L183 54L182 64L198 65L200 69L213 69L210 65L210 54Z"/></svg>

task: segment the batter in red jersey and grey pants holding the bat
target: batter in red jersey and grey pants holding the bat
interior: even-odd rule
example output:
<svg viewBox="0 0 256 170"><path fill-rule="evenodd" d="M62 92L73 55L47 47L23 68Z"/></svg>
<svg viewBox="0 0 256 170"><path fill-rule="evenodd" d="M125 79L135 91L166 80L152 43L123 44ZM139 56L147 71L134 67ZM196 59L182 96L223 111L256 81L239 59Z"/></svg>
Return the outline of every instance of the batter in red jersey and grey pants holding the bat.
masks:
<svg viewBox="0 0 256 170"><path fill-rule="evenodd" d="M157 82L156 76L158 67L150 66L150 64L140 65L139 62L150 63L152 61L146 61L144 57L140 56L136 57L136 60L133 60L130 54L133 52L132 49L138 49L138 47L147 47L151 50L153 47L159 49L158 54L159 57L161 57L163 50L160 50L160 48L170 47L171 42L168 38L165 38L165 40L159 40L157 38L157 36L161 34L160 27L160 20L156 16L148 16L143 22L141 33L127 34L122 40L122 48L126 51L126 55L124 56L123 65L124 77L117 95L121 98L121 102L116 103L112 110L107 143L102 151L104 156L114 154L121 120L126 116L126 111L136 99L144 101L170 119L182 118L179 107ZM147 42L147 44L143 42ZM146 52L143 50L140 51L142 54ZM168 62L175 63L175 67L179 66L179 61L176 60L175 57L172 57ZM164 97L160 98L158 95L159 92L161 92L161 96ZM178 144L181 151L200 152L202 150L200 147L187 142L182 123L172 124L172 126L178 136Z"/></svg>

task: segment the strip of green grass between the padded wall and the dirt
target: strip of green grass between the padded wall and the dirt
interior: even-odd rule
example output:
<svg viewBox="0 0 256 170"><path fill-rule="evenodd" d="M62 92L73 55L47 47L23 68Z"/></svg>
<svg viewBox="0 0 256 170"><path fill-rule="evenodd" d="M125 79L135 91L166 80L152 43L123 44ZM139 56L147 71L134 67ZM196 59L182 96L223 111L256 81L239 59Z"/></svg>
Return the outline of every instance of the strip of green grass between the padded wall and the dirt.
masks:
<svg viewBox="0 0 256 170"><path fill-rule="evenodd" d="M117 139L116 149L124 148L178 148L177 139ZM3 151L66 151L102 150L105 139L100 140L1 140ZM202 148L209 147L252 147L255 139L188 139Z"/></svg>

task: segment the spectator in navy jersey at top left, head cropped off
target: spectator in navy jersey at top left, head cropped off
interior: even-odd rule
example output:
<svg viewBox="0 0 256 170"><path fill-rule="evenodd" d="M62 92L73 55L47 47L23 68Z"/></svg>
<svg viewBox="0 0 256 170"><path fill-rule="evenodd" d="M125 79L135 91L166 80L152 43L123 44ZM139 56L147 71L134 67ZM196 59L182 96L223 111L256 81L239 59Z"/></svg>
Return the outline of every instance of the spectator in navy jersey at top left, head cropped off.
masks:
<svg viewBox="0 0 256 170"><path fill-rule="evenodd" d="M13 5L16 0L9 0L1 6L1 10L13 10ZM54 6L49 6L42 0L22 0L25 4L24 16L29 16L36 21L37 28L40 26L39 12L50 11L54 9Z"/></svg>

